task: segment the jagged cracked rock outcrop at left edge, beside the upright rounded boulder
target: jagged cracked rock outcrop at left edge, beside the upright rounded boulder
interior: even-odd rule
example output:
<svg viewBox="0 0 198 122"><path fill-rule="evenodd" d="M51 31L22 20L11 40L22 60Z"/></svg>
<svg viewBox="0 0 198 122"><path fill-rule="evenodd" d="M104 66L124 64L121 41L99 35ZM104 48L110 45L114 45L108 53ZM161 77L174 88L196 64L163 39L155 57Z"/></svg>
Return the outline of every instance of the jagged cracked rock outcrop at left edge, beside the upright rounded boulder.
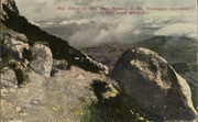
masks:
<svg viewBox="0 0 198 122"><path fill-rule="evenodd" d="M2 27L3 25L1 25ZM13 32L12 30L3 26L1 33L1 71L4 68L12 68L15 73L18 85L25 84L25 68L29 64L28 59L24 58L24 49L30 46L26 42L26 37L23 34ZM12 77L12 76L7 76Z"/></svg>

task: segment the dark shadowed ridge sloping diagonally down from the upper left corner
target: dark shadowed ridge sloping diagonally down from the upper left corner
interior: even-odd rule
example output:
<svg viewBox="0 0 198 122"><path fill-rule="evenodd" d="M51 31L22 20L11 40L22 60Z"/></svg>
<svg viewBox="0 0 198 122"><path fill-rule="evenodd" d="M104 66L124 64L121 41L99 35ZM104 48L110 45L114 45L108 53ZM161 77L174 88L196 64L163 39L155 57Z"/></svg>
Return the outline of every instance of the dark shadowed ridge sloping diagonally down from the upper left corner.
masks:
<svg viewBox="0 0 198 122"><path fill-rule="evenodd" d="M19 15L2 4L6 14L1 14L2 23L15 32L23 33L29 40L29 45L33 46L36 41L48 44L53 57L66 59L70 65L78 66L85 70L98 74L108 74L108 67L95 62L87 54L70 46L66 41L42 31L38 26L31 24L24 16Z"/></svg>

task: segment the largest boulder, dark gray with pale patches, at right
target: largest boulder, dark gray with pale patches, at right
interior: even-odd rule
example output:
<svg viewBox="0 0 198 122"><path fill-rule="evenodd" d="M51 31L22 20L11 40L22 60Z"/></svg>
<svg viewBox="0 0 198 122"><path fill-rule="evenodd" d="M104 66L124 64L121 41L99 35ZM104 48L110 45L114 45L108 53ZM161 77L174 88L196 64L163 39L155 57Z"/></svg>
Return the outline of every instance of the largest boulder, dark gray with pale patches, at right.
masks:
<svg viewBox="0 0 198 122"><path fill-rule="evenodd" d="M111 78L133 95L148 117L161 121L191 121L197 115L186 80L150 49L139 47L124 52Z"/></svg>

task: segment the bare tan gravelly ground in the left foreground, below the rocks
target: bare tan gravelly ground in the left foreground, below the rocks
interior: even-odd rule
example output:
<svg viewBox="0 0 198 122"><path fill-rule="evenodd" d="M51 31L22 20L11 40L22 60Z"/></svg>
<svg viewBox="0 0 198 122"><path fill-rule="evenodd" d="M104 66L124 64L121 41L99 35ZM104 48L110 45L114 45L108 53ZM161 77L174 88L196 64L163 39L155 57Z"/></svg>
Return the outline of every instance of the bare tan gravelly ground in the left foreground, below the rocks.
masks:
<svg viewBox="0 0 198 122"><path fill-rule="evenodd" d="M73 66L70 70L58 70L55 77L43 77L33 70L26 75L29 84L25 88L18 88L15 92L8 90L4 95L9 96L1 96L0 121L79 122L79 115L85 113L81 108L87 102L97 102L91 91L92 80L106 79L103 75ZM79 75L85 79L76 79Z"/></svg>

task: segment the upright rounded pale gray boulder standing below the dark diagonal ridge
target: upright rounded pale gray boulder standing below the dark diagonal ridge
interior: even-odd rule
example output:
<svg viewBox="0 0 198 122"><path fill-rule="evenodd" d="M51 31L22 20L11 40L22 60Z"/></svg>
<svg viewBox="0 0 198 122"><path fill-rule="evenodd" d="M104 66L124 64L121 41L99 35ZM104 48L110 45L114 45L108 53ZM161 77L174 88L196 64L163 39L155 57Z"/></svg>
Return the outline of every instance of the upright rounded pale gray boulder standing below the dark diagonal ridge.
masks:
<svg viewBox="0 0 198 122"><path fill-rule="evenodd" d="M52 69L53 57L51 49L42 44L35 43L31 48L33 60L31 62L31 68L34 71L48 77Z"/></svg>

